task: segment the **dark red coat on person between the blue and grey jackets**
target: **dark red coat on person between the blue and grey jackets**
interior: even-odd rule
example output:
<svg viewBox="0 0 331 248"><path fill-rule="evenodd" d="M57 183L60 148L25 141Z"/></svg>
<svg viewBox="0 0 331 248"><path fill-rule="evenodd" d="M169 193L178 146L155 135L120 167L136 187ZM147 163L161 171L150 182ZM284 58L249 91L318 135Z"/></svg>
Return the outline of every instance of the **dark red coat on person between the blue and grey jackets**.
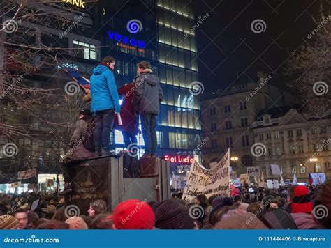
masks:
<svg viewBox="0 0 331 248"><path fill-rule="evenodd" d="M135 84L126 84L118 88L119 95L124 95L124 100L121 106L121 118L123 125L118 125L118 119L115 118L114 128L129 134L138 134L139 132L139 117L135 114L132 105L133 92Z"/></svg>

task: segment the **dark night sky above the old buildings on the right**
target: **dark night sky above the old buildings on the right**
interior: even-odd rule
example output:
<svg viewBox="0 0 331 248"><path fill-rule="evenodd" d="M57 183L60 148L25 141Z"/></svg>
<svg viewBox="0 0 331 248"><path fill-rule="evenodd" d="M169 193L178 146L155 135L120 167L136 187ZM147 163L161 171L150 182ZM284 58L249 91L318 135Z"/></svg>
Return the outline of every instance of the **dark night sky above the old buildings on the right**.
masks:
<svg viewBox="0 0 331 248"><path fill-rule="evenodd" d="M316 29L312 17L331 0L202 0L195 15L207 20L196 29L199 78L205 92L235 83L256 82L256 72L272 75L271 84L286 87L284 65ZM330 13L329 13L330 15ZM251 23L263 20L266 29L253 33Z"/></svg>

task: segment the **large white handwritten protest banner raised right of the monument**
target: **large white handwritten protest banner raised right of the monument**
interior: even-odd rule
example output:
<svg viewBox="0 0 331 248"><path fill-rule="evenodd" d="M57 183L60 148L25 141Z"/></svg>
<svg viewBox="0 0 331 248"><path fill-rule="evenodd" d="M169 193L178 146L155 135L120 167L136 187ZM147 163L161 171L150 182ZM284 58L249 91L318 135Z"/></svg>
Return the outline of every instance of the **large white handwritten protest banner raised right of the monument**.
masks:
<svg viewBox="0 0 331 248"><path fill-rule="evenodd" d="M214 166L207 170L198 162L191 164L189 176L182 199L184 201L193 201L199 194L205 194L207 198L212 195L228 196L230 180L230 150Z"/></svg>

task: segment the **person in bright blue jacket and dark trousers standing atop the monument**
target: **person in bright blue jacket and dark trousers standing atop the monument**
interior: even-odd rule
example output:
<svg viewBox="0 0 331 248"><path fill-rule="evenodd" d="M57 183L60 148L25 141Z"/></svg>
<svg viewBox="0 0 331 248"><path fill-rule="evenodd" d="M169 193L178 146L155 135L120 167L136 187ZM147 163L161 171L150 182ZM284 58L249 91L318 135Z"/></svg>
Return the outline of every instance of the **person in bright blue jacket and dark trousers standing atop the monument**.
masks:
<svg viewBox="0 0 331 248"><path fill-rule="evenodd" d="M115 59L106 56L91 76L91 112L94 113L96 156L110 155L110 132L115 113L121 111L114 78Z"/></svg>

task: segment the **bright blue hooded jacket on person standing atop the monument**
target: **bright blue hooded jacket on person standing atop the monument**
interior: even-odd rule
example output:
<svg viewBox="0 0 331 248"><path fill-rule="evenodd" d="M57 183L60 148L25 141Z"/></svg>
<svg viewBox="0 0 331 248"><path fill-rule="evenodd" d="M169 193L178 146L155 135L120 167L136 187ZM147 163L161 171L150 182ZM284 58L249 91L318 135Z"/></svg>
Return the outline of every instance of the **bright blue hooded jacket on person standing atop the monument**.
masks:
<svg viewBox="0 0 331 248"><path fill-rule="evenodd" d="M93 70L91 82L91 112L114 109L121 111L119 95L112 71L105 65L98 65Z"/></svg>

